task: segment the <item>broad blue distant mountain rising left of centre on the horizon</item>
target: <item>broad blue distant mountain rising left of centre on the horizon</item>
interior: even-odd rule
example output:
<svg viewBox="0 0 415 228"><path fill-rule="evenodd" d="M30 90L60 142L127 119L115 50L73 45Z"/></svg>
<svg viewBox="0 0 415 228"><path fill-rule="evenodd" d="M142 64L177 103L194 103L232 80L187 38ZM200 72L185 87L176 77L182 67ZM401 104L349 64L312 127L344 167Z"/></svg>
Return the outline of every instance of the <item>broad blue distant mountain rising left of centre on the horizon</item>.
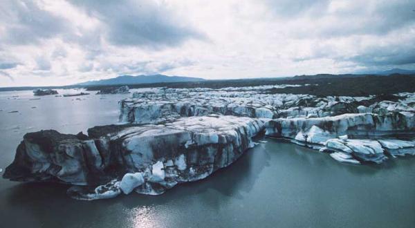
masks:
<svg viewBox="0 0 415 228"><path fill-rule="evenodd" d="M82 82L77 86L112 86L125 84L149 84L160 82L201 82L205 81L199 77L167 76L167 75L122 75L111 79Z"/></svg>

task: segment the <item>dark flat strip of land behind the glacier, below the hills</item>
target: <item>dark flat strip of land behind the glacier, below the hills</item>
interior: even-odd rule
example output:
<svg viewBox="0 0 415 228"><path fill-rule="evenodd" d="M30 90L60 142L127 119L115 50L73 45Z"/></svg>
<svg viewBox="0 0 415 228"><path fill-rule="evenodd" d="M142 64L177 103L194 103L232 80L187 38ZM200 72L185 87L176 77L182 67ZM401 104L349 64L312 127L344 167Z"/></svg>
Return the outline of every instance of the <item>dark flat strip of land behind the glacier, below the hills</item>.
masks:
<svg viewBox="0 0 415 228"><path fill-rule="evenodd" d="M5 91L33 91L42 89L85 88L87 91L100 91L103 88L129 86L129 88L225 88L243 86L263 86L275 84L313 84L313 86L273 88L264 93L293 93L317 96L342 95L366 96L415 92L415 75L302 75L295 77L254 78L254 79L223 79L205 80L201 82L158 82L145 84L111 84L111 85L70 85L70 86L21 86L3 87ZM323 89L324 88L324 89Z"/></svg>

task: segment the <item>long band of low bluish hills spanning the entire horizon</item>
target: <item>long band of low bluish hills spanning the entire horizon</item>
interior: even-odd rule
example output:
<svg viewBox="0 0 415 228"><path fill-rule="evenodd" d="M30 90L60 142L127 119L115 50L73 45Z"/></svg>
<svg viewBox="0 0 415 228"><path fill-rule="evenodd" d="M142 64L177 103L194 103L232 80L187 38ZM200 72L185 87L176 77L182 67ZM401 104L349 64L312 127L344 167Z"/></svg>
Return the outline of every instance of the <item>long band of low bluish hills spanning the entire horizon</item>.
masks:
<svg viewBox="0 0 415 228"><path fill-rule="evenodd" d="M396 72L396 69L387 70L389 72ZM405 73L393 73L389 75L382 74L317 74L317 75L296 75L287 77L256 77L247 79L202 79L198 77L181 77L181 76L167 76L167 75L122 75L111 79L102 79L80 84L71 84L67 86L15 86L15 87L0 87L0 91L30 91L37 88L42 89L57 89L57 88L87 88L88 91L99 91L101 88L112 86L129 86L129 88L148 88L148 87L172 87L172 88L224 88L224 87L241 87L241 86L261 86L271 84L317 84L320 81L326 80L342 80L342 79L359 79L363 77L371 77L371 80L389 78L396 76L407 76L405 78L411 79L415 77L412 70L406 70ZM386 73L386 71L385 71Z"/></svg>

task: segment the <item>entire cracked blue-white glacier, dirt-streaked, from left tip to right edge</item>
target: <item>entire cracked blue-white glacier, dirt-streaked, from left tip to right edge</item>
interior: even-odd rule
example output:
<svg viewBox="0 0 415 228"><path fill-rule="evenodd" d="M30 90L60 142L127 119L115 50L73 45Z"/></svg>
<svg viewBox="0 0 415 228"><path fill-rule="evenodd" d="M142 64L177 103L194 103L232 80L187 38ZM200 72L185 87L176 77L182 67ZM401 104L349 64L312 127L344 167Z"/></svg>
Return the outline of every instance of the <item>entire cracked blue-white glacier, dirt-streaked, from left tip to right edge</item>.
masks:
<svg viewBox="0 0 415 228"><path fill-rule="evenodd" d="M120 100L119 124L95 126L86 135L27 133L3 178L71 184L68 195L80 200L159 195L228 167L260 134L353 165L415 155L414 93L266 93L284 86L301 85L135 92Z"/></svg>

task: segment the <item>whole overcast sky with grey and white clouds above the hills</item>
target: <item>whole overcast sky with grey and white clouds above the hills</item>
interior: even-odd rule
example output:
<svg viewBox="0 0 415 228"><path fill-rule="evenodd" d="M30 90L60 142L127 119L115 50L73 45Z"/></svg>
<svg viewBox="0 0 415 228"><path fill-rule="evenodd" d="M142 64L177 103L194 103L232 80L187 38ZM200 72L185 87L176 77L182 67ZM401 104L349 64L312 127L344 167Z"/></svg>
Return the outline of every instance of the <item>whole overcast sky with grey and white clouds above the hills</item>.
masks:
<svg viewBox="0 0 415 228"><path fill-rule="evenodd" d="M0 86L415 69L413 0L1 0Z"/></svg>

